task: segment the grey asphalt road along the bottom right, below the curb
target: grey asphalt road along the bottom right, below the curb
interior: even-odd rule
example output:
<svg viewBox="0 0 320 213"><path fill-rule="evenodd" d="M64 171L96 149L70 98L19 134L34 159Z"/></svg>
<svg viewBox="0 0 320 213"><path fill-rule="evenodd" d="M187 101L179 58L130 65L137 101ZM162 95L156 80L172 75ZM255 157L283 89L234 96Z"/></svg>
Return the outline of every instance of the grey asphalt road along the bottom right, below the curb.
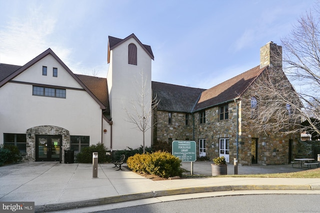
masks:
<svg viewBox="0 0 320 213"><path fill-rule="evenodd" d="M319 195L272 194L199 198L97 213L317 213Z"/></svg>

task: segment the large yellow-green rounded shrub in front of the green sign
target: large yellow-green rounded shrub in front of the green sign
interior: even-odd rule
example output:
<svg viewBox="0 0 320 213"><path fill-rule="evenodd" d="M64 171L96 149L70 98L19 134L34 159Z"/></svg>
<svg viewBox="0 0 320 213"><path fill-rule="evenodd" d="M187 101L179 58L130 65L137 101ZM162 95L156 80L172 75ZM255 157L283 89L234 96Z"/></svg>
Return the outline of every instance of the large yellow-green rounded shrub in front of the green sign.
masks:
<svg viewBox="0 0 320 213"><path fill-rule="evenodd" d="M168 152L136 154L126 161L128 168L134 172L156 175L162 178L181 176L181 160Z"/></svg>

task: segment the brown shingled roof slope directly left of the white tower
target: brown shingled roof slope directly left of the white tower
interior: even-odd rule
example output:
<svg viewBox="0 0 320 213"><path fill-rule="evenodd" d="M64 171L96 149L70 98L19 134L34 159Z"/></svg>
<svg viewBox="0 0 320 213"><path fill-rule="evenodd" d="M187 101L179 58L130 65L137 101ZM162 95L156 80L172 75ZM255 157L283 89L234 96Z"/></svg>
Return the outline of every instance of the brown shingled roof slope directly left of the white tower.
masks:
<svg viewBox="0 0 320 213"><path fill-rule="evenodd" d="M105 106L105 113L110 113L109 95L106 78L75 74L80 81Z"/></svg>

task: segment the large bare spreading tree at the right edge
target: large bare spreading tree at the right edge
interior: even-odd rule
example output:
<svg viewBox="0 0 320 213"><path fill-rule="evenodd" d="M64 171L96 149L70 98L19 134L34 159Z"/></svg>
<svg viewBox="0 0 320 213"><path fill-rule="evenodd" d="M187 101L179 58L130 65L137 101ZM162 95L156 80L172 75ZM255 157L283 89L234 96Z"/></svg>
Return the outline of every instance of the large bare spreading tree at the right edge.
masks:
<svg viewBox="0 0 320 213"><path fill-rule="evenodd" d="M252 97L247 97L243 112L251 116L246 125L255 131L283 134L307 131L320 135L319 3L281 39L283 55L277 59L283 61L283 72L270 66L251 85L249 91L257 99L256 104L250 100Z"/></svg>

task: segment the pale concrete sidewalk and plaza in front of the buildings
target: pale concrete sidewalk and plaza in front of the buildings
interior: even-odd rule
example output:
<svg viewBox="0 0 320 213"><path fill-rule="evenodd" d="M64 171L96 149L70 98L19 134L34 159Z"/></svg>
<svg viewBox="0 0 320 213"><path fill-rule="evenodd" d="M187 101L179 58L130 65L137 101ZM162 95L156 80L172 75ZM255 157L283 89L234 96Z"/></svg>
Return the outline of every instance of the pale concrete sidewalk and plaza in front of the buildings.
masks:
<svg viewBox="0 0 320 213"><path fill-rule="evenodd" d="M211 175L210 162L194 162L193 174ZM190 171L190 163L182 168ZM152 181L138 174L99 164L29 162L0 167L0 202L35 202L35 212L58 211L123 201L201 192L234 190L320 190L320 178L194 178ZM228 174L233 174L228 165ZM290 165L243 166L238 174L297 172Z"/></svg>

